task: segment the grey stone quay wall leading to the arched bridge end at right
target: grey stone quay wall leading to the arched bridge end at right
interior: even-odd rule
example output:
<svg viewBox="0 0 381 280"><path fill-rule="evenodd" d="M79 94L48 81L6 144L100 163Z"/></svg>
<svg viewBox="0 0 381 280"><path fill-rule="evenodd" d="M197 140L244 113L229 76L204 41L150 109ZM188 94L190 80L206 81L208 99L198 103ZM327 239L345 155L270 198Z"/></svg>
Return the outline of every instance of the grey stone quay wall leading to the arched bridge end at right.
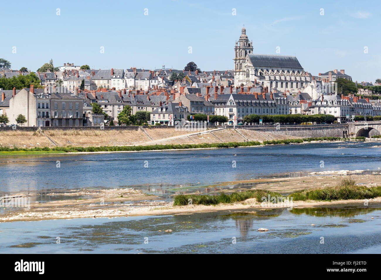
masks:
<svg viewBox="0 0 381 280"><path fill-rule="evenodd" d="M285 134L289 136L309 137L371 137L380 135L381 121L350 122L330 125L228 125L226 128L242 128L263 133Z"/></svg>

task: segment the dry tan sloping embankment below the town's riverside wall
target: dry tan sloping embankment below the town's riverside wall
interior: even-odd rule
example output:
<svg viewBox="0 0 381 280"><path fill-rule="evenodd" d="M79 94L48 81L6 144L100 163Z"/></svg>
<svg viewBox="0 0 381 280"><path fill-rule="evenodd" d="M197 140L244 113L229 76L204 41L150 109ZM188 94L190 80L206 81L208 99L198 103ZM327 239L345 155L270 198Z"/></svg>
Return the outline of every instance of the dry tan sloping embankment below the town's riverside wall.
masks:
<svg viewBox="0 0 381 280"><path fill-rule="evenodd" d="M140 130L46 130L0 131L0 146L54 147L58 146L131 146L154 144L200 144L243 141L295 139L296 136L263 133L245 129L179 131L174 128L146 128Z"/></svg>

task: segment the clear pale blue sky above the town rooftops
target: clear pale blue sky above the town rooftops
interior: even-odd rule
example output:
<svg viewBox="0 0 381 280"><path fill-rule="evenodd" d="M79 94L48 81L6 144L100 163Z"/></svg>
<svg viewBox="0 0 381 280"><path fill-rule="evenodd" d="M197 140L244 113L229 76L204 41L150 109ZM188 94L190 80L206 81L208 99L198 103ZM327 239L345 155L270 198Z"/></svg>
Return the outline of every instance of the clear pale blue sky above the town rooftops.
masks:
<svg viewBox="0 0 381 280"><path fill-rule="evenodd" d="M379 1L6 1L0 58L36 71L53 59L92 69L233 69L246 28L254 53L295 55L312 75L381 78ZM102 52L102 50L104 50ZM278 50L278 53L277 53Z"/></svg>

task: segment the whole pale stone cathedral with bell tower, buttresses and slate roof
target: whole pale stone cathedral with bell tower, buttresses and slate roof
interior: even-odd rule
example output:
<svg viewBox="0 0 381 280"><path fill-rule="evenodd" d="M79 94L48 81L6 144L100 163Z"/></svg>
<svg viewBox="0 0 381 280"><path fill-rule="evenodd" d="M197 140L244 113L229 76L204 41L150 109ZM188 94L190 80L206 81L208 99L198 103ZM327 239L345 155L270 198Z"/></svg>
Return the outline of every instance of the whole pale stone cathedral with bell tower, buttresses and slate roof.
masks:
<svg viewBox="0 0 381 280"><path fill-rule="evenodd" d="M234 48L235 86L259 83L268 86L269 91L292 94L303 91L311 80L312 75L304 71L295 56L254 54L253 41L249 41L246 29L242 28Z"/></svg>

